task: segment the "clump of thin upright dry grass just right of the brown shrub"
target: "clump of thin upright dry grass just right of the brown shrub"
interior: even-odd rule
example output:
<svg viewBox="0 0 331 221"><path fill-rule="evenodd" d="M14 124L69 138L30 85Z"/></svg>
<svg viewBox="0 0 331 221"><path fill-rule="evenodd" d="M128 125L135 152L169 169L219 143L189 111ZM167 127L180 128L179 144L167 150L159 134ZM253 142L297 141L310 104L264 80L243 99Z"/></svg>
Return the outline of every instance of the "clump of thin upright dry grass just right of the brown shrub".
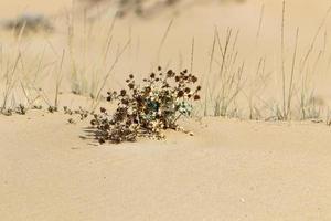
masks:
<svg viewBox="0 0 331 221"><path fill-rule="evenodd" d="M238 62L237 51L238 31L233 34L227 29L224 42L221 41L217 29L213 40L213 48L210 61L210 75L207 77L204 114L207 115L212 104L213 116L234 116L237 114L236 98L243 90L244 62ZM218 49L218 60L215 48ZM212 74L212 64L216 62L220 66L215 75ZM213 82L213 83L211 83Z"/></svg>

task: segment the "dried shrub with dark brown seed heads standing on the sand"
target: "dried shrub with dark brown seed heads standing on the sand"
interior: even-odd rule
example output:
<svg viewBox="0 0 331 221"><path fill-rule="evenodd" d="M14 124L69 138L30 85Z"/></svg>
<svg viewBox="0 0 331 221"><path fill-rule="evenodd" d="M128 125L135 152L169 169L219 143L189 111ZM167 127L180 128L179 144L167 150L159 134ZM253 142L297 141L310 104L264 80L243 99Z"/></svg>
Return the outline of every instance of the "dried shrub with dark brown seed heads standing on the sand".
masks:
<svg viewBox="0 0 331 221"><path fill-rule="evenodd" d="M196 82L197 77L186 70L177 74L159 67L141 85L129 75L128 90L107 93L108 102L117 102L115 113L110 115L102 107L94 115L90 124L96 128L96 138L100 144L136 141L138 137L163 139L162 130L178 129L179 118L191 115L192 102L200 99Z"/></svg>

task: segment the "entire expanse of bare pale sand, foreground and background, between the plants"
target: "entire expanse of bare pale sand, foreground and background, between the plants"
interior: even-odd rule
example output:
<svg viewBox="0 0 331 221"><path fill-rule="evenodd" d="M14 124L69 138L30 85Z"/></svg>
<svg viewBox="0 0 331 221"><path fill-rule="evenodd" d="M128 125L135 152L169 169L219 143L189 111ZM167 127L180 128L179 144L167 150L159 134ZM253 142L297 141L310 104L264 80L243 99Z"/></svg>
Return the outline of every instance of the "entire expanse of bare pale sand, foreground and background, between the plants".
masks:
<svg viewBox="0 0 331 221"><path fill-rule="evenodd" d="M159 15L153 19L137 19L129 14L117 21L114 51L119 51L128 39L131 44L116 64L107 88L122 86L128 73L150 72L154 62L174 69L190 66L193 36L194 71L205 77L217 25L222 33L227 27L241 30L241 56L246 57L247 63L258 61L260 56L270 59L267 72L276 74L270 77L271 86L264 93L266 97L275 95L279 98L279 93L273 90L279 86L279 70L275 66L279 66L281 1L248 0L239 4L183 2L179 8L157 12ZM329 4L327 0L287 1L288 69L296 27L300 27L299 45L309 46ZM264 22L257 43L261 6L265 6ZM45 70L41 71L41 80L36 83L43 87L47 99L54 96L56 78L47 73L56 72L57 66L51 71L46 66L58 62L63 49L67 50L67 27L63 14L72 7L66 0L24 3L21 0L0 0L1 19L14 18L23 11L36 11L52 18L55 23L54 33L29 35L20 42L24 49L21 53L25 69L20 67L18 72L31 70L34 73L36 57L47 48ZM92 44L84 44L86 35L83 34L74 43L76 62L79 71L86 74L88 86L92 82L88 74L105 72L111 65L107 62L99 67L102 63L95 62L104 49L104 43L96 42L105 42L114 15L111 8L110 15L99 10L98 7L88 9L88 19L97 21L90 28L94 30L89 36ZM171 31L157 61L160 40L171 19ZM75 29L79 33L85 30L81 21ZM325 30L329 25L330 22L323 23ZM15 48L15 40L7 31L1 31L0 36L4 51ZM319 35L316 54L323 49L323 36L327 39L328 32ZM84 46L89 50L84 51ZM303 51L298 53L305 54ZM14 61L13 54L6 54L6 59ZM114 59L115 55L109 56ZM328 109L331 77L327 55L322 61L324 65L314 69L322 74L316 74L313 83L316 98L321 99L319 107ZM248 64L248 75L256 72L257 63ZM88 107L88 92L82 95L71 93L70 61L64 62L62 73L60 104ZM3 91L2 85L0 81L0 91ZM243 90L242 96L245 97L244 92L248 91ZM19 92L12 97L13 101L24 99ZM238 98L238 103L247 107L242 99ZM38 102L45 105L43 101ZM194 116L181 120L181 125L194 136L167 131L166 140L140 139L120 145L99 145L88 133L88 119L82 122L73 116L75 124L68 124L70 116L62 112L50 114L43 109L28 110L23 116L0 115L0 220L331 220L331 129L324 124L324 114L313 120L286 122L266 120L268 116L259 120L247 120L242 116Z"/></svg>

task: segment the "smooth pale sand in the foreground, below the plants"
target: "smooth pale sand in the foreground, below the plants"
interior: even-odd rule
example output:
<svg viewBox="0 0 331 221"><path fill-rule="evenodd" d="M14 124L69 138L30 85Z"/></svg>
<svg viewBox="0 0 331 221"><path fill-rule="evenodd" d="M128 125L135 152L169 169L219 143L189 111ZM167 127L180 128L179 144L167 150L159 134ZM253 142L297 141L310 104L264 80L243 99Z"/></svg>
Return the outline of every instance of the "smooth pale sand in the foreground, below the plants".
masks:
<svg viewBox="0 0 331 221"><path fill-rule="evenodd" d="M183 124L194 137L98 146L60 114L1 117L1 219L331 219L325 126Z"/></svg>

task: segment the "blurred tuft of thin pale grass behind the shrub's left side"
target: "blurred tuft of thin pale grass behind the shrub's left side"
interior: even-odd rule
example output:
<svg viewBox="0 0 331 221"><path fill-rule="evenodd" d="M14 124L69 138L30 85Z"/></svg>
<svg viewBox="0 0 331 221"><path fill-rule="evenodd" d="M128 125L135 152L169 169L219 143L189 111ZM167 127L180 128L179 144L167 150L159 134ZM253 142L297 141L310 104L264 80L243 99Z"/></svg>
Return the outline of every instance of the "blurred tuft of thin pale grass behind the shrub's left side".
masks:
<svg viewBox="0 0 331 221"><path fill-rule="evenodd" d="M79 22L75 21L77 18L74 14L68 13L66 18L71 91L77 95L87 95L97 103L100 91L105 87L116 64L130 44L130 39L124 46L118 45L115 49L113 31L116 18L109 20L109 27L100 28L95 24L95 21L89 21L86 17L84 13L83 27L79 27ZM99 33L100 31L103 34ZM98 34L96 35L96 33ZM96 45L94 39L96 36L105 38L98 38ZM111 52L114 52L114 61L109 62L113 59L110 57ZM92 53L96 55L88 57Z"/></svg>

